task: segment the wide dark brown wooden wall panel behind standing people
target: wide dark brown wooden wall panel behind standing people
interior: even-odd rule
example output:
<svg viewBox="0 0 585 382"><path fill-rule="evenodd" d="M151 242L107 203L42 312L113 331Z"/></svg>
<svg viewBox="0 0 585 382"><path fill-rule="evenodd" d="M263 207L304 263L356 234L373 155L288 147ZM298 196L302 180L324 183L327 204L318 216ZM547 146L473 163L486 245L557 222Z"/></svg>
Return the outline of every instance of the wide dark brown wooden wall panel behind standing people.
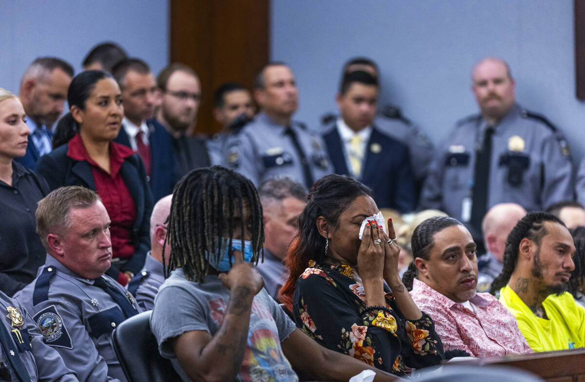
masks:
<svg viewBox="0 0 585 382"><path fill-rule="evenodd" d="M171 0L170 15L170 61L191 66L201 79L195 131L217 132L214 89L226 81L252 87L269 59L269 0Z"/></svg>

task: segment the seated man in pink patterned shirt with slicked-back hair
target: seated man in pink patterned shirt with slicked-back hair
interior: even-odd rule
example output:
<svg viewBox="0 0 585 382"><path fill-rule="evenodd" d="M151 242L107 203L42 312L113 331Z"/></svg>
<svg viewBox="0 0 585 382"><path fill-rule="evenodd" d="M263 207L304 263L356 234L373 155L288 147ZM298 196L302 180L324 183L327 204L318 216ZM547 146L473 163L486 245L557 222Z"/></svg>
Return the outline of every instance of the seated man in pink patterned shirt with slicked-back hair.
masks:
<svg viewBox="0 0 585 382"><path fill-rule="evenodd" d="M445 350L474 357L532 353L508 309L494 296L476 292L476 244L458 220L432 217L419 224L412 255L402 281L435 322Z"/></svg>

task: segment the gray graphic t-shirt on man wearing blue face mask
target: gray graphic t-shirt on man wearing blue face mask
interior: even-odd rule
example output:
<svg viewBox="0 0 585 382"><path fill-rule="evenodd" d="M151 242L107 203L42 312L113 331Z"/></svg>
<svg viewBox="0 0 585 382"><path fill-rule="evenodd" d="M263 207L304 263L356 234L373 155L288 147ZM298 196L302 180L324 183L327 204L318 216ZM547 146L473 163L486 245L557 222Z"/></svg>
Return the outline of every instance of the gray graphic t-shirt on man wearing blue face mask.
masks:
<svg viewBox="0 0 585 382"><path fill-rule="evenodd" d="M183 270L178 269L161 286L154 299L150 327L160 354L171 360L184 381L190 379L179 366L168 339L191 330L206 330L215 335L228 300L229 290L214 275L208 275L198 284L187 281ZM266 290L254 296L247 346L237 380L297 382L298 377L280 346L294 329L294 322Z"/></svg>

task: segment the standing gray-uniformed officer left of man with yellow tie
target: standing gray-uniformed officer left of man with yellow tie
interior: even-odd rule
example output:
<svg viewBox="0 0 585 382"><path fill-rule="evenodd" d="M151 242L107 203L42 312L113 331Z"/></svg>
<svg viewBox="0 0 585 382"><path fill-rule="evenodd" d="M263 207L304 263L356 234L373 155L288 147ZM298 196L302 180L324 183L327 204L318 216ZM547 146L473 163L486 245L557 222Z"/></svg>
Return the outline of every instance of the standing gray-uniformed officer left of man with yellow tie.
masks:
<svg viewBox="0 0 585 382"><path fill-rule="evenodd" d="M284 63L267 64L256 77L254 97L261 112L239 135L230 136L226 163L254 185L278 175L311 188L333 172L324 143L299 122L297 85Z"/></svg>

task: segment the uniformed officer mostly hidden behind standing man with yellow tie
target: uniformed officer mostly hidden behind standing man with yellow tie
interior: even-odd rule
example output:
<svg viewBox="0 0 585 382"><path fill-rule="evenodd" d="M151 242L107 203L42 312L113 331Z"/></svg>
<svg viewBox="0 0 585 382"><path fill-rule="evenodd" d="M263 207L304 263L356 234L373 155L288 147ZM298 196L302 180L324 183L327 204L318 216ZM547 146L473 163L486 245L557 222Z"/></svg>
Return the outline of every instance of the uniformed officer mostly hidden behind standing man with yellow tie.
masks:
<svg viewBox="0 0 585 382"><path fill-rule="evenodd" d="M348 60L343 65L342 76L358 70L370 73L378 81L380 79L380 71L378 70L377 64L367 57L355 57ZM321 119L322 127L325 129L333 124L337 118L333 113L324 115ZM400 108L395 105L386 104L381 107L376 118L374 118L374 125L383 131L384 134L390 135L390 137L408 146L412 174L414 175L418 194L433 159L433 145L431 141L426 135L420 132L417 125L405 118Z"/></svg>

